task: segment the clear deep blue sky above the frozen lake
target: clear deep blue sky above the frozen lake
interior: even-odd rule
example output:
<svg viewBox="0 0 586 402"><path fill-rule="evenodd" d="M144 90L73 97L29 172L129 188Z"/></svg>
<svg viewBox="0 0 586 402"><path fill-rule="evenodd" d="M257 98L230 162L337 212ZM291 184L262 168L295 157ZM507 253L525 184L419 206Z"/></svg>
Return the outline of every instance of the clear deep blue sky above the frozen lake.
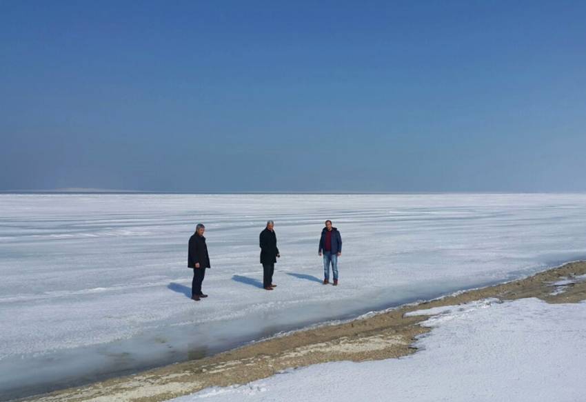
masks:
<svg viewBox="0 0 586 402"><path fill-rule="evenodd" d="M0 0L0 190L585 191L585 1Z"/></svg>

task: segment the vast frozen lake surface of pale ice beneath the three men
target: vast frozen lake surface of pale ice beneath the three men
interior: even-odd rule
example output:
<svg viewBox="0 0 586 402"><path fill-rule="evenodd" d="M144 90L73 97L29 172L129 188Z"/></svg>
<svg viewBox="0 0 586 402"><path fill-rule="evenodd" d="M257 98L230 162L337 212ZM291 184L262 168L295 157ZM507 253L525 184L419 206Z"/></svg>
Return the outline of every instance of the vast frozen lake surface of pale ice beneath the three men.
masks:
<svg viewBox="0 0 586 402"><path fill-rule="evenodd" d="M337 288L321 285L325 219L343 237ZM212 260L200 302L186 267L197 222ZM0 399L584 257L586 194L0 194Z"/></svg>

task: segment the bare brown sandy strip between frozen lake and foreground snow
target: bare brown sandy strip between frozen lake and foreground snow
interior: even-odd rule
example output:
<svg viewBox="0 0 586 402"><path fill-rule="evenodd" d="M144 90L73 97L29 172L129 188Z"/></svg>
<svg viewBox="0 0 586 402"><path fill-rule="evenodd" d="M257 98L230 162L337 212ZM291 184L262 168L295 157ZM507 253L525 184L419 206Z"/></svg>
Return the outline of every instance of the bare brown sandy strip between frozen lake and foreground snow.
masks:
<svg viewBox="0 0 586 402"><path fill-rule="evenodd" d="M502 300L538 297L548 303L576 303L586 299L586 262L568 263L526 279L469 290L449 297L405 305L347 323L323 325L245 345L205 359L169 365L132 376L79 388L52 392L26 401L163 401L210 386L243 384L287 368L327 361L365 361L405 356L410 345L429 328L418 325L427 316L405 316L422 308L456 305L494 297ZM566 280L565 287L554 283Z"/></svg>

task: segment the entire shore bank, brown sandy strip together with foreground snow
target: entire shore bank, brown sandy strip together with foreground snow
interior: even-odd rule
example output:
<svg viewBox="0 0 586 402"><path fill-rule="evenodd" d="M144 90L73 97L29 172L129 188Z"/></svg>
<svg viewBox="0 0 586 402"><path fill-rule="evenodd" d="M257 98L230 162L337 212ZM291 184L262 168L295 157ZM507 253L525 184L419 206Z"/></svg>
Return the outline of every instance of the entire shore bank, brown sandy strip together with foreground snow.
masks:
<svg viewBox="0 0 586 402"><path fill-rule="evenodd" d="M585 300L586 263L568 263L31 401L580 401Z"/></svg>

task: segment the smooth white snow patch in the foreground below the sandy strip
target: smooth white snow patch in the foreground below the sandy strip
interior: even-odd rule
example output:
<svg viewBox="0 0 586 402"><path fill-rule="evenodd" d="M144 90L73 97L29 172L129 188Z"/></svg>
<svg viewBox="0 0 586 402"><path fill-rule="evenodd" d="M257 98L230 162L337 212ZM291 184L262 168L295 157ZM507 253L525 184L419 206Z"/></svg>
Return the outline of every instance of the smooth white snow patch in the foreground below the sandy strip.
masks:
<svg viewBox="0 0 586 402"><path fill-rule="evenodd" d="M586 303L487 299L418 313L439 315L410 356L313 365L172 401L585 401Z"/></svg>

